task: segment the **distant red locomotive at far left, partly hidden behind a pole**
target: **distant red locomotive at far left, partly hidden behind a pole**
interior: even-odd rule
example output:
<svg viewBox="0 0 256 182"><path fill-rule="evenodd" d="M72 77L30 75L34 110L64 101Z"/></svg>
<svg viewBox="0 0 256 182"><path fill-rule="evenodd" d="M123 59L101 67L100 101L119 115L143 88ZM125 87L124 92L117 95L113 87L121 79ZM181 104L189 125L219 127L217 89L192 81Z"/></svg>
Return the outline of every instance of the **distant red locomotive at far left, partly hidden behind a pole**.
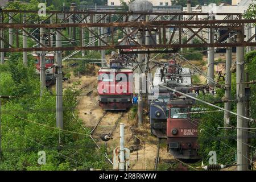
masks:
<svg viewBox="0 0 256 182"><path fill-rule="evenodd" d="M36 74L40 75L40 56L36 53L33 53L32 56L35 58L36 65ZM54 54L47 53L46 54L46 86L55 84L55 76L54 76Z"/></svg>

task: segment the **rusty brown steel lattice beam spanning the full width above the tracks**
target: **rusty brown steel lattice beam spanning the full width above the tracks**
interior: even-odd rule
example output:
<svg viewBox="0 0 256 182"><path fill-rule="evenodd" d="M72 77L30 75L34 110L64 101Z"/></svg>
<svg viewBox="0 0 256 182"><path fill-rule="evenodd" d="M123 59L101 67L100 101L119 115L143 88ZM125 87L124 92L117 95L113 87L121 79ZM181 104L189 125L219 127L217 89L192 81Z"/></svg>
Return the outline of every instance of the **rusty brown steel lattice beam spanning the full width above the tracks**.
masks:
<svg viewBox="0 0 256 182"><path fill-rule="evenodd" d="M31 51L75 51L75 50L99 50L99 49L178 49L186 47L236 47L236 46L256 46L255 34L247 38L246 42L226 43L222 39L229 35L230 32L242 32L244 35L245 25L247 23L256 23L253 19L242 19L242 14L218 13L221 20L209 20L207 13L144 13L144 12L97 12L97 11L48 11L46 17L39 17L38 11L19 11L19 10L3 10L1 13L0 29L3 32L13 30L16 36L16 44L9 45L6 37L0 39L5 43L4 48L0 48L0 52L31 52ZM22 23L22 17L26 14L27 19ZM150 20L145 21L145 16L150 15ZM189 15L189 19L184 20ZM69 22L69 18L73 17L73 22ZM95 16L94 22L90 18ZM164 17L164 18L163 18ZM9 23L9 19L13 19L13 23ZM52 19L52 23L50 23ZM101 23L102 19L108 23ZM160 20L161 19L161 20ZM55 47L51 43L51 36L55 35L56 30L65 28L76 28L77 39L69 38L61 34L62 40L67 42L63 47ZM96 31L98 28L105 27L108 31L100 34ZM46 45L40 44L38 35L39 28L46 28ZM216 39L207 41L201 32L207 28L226 29L226 33L217 36ZM161 31L164 30L164 31ZM171 30L170 36L167 38L166 30ZM191 37L185 42L182 41L184 30L192 32ZM22 38L22 31L26 32L27 39L33 40L37 45L23 48L17 37ZM82 31L87 36L82 36ZM148 31L151 43L146 45L143 41L138 43L137 32L141 31L145 34ZM124 36L118 40L117 32L121 32ZM161 33L162 32L162 33ZM163 33L164 32L164 33ZM158 34L158 42L155 41L154 35ZM4 35L4 34L3 34ZM90 35L90 36L89 36ZM106 38L105 38L106 36ZM94 43L90 46L82 46L82 41L89 43L92 39L99 39L102 44ZM197 38L200 40L197 44L189 44L189 40ZM53 39L52 39L53 40ZM127 43L129 40L129 43ZM41 46L41 47L40 47Z"/></svg>

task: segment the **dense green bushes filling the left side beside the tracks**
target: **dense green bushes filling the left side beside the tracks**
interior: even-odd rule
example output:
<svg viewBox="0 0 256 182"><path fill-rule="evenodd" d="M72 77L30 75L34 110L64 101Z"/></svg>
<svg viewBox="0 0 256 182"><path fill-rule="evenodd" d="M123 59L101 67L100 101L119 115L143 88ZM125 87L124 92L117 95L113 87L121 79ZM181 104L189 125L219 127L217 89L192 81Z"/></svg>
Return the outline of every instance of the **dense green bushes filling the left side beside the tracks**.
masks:
<svg viewBox="0 0 256 182"><path fill-rule="evenodd" d="M14 55L15 57L15 55ZM81 127L76 115L77 85L64 90L64 130L55 127L55 96L45 90L39 97L39 78L33 60L28 68L22 60L10 59L0 65L0 94L16 96L1 99L2 152L0 170L73 170L109 168L102 151L98 151ZM72 131L70 133L67 131ZM88 135L86 135L88 134ZM46 152L46 164L38 164L39 151Z"/></svg>

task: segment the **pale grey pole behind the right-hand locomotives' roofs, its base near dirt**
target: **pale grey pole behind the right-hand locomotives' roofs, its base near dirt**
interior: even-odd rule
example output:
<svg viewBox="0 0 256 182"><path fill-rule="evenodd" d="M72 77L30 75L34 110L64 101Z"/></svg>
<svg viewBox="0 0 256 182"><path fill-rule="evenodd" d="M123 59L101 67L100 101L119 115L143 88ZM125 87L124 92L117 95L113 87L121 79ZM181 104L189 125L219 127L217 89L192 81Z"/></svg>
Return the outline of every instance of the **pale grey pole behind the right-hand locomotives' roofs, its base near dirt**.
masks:
<svg viewBox="0 0 256 182"><path fill-rule="evenodd" d="M213 16L211 18L214 19ZM214 29L208 29L208 43L214 43ZM214 47L208 47L208 72L207 72L207 84L213 85L214 82ZM209 79L210 78L210 79Z"/></svg>

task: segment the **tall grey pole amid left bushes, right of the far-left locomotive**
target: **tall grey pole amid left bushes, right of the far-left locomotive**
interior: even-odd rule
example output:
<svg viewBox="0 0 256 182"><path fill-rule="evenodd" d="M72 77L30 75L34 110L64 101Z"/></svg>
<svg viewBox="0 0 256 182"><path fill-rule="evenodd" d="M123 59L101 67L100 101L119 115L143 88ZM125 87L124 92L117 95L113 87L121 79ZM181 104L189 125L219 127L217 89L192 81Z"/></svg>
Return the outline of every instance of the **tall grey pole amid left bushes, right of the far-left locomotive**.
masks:
<svg viewBox="0 0 256 182"><path fill-rule="evenodd" d="M62 47L59 31L56 31L56 47ZM56 51L56 64L56 127L63 129L62 51Z"/></svg>

